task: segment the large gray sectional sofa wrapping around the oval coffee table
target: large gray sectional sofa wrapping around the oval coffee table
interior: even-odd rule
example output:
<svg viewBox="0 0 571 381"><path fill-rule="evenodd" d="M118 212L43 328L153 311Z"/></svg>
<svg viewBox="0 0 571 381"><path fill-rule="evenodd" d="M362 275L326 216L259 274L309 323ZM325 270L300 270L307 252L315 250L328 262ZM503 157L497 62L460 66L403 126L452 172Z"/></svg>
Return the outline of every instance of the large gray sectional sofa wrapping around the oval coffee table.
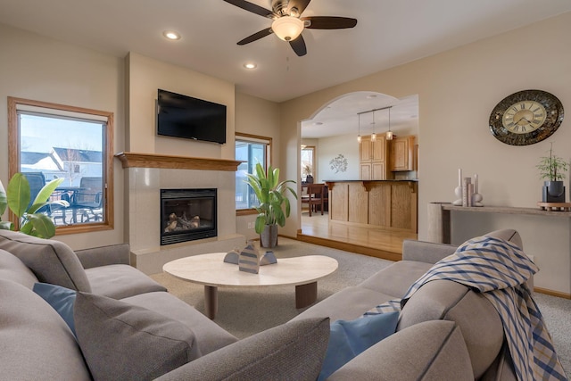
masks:
<svg viewBox="0 0 571 381"><path fill-rule="evenodd" d="M493 235L521 246L513 230ZM401 297L454 250L407 241L403 261L238 341L130 267L127 244L73 252L0 230L0 379L315 380L330 321L359 318ZM54 308L32 291L37 283L72 293L74 330L64 309L58 314L53 301ZM489 302L465 286L433 281L410 298L395 334L328 379L515 379L503 344Z"/></svg>

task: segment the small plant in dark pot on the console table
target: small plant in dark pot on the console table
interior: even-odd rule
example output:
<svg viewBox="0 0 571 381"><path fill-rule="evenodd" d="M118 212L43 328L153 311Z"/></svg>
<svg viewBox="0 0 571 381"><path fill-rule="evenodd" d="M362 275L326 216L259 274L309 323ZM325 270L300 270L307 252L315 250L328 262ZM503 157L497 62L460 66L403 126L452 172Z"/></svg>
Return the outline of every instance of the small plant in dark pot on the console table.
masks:
<svg viewBox="0 0 571 381"><path fill-rule="evenodd" d="M543 182L543 203L565 203L565 186L563 179L565 172L569 170L569 162L553 153L553 144L550 147L550 155L540 158L537 169Z"/></svg>

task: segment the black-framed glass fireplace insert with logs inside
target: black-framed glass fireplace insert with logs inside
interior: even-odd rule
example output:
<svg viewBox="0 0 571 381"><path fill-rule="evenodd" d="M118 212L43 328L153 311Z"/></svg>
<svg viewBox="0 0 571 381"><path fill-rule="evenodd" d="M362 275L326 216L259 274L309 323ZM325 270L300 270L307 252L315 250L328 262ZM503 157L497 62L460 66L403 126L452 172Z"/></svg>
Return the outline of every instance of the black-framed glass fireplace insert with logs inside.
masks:
<svg viewBox="0 0 571 381"><path fill-rule="evenodd" d="M161 189L161 245L218 236L215 188Z"/></svg>

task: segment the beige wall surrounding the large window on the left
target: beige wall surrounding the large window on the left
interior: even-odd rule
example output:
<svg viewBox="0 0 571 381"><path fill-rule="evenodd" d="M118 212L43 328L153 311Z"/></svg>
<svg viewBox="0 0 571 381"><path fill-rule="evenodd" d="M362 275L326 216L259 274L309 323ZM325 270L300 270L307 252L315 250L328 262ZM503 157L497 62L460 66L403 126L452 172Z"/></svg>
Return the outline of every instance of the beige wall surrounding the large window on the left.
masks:
<svg viewBox="0 0 571 381"><path fill-rule="evenodd" d="M0 25L0 179L8 181L7 96L115 114L116 152L124 146L123 60ZM123 172L114 168L115 228L56 236L74 249L123 242Z"/></svg>

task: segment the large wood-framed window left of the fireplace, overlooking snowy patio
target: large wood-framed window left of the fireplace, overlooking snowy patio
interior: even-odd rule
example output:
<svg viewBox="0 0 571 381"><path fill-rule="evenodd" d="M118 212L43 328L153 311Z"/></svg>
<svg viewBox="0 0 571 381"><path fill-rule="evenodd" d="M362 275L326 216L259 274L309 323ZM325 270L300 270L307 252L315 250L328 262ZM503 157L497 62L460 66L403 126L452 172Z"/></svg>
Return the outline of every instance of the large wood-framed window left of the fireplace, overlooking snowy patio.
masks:
<svg viewBox="0 0 571 381"><path fill-rule="evenodd" d="M112 128L112 112L8 97L10 177L22 172L32 199L64 178L51 199L70 206L46 210L56 234L113 228Z"/></svg>

